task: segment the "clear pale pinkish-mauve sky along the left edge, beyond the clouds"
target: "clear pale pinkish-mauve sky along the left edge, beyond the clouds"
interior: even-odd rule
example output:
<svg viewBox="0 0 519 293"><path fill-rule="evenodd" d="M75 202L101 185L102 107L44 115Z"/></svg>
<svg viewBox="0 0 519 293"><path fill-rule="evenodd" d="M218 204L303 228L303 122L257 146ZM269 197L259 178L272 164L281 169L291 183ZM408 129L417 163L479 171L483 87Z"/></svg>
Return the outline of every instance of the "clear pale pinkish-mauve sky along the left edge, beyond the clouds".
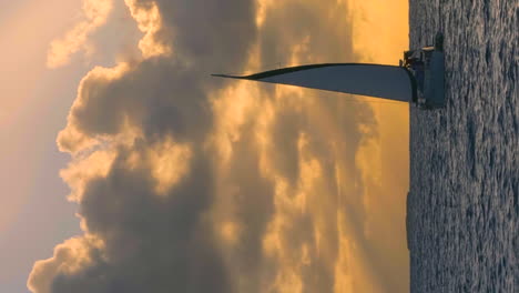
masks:
<svg viewBox="0 0 519 293"><path fill-rule="evenodd" d="M0 4L0 292L28 292L33 262L80 232L57 173L68 159L54 141L86 69L50 72L44 64L49 41L73 21L73 2ZM61 19L52 14L63 11Z"/></svg>

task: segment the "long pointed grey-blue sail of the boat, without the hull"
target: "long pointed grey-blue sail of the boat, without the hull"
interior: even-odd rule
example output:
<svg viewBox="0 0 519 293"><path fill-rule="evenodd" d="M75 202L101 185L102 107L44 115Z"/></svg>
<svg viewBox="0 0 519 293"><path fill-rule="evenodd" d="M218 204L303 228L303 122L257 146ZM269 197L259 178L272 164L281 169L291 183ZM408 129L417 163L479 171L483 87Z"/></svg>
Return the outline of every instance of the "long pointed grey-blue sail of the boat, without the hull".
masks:
<svg viewBox="0 0 519 293"><path fill-rule="evenodd" d="M213 75L370 95L405 102L413 101L416 97L416 84L413 74L406 68L394 65L327 63L291 67L243 77Z"/></svg>

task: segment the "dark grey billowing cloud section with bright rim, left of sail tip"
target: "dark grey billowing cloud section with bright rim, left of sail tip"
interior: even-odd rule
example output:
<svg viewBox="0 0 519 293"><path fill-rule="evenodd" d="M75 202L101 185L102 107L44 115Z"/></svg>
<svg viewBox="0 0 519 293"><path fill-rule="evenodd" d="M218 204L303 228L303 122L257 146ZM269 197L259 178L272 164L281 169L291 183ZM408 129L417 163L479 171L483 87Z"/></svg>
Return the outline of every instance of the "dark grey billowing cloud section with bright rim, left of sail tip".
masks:
<svg viewBox="0 0 519 293"><path fill-rule="evenodd" d="M213 245L212 222L204 218L214 181L212 159L204 150L213 119L206 94L221 83L207 78L203 60L189 55L200 46L220 48L218 62L240 67L255 36L254 6L210 4L211 13L203 16L204 3L126 1L145 32L140 43L143 59L95 68L81 82L58 144L73 155L62 176L71 186L70 198L79 203L85 235L34 264L28 281L32 292L230 292L230 276ZM191 17L165 23L162 16L171 14L169 10ZM220 31L213 28L215 37L206 38L204 30L193 31L205 34L201 38L174 33L195 22L205 22L206 29L206 17L213 14L221 26ZM234 30L245 36L234 44L216 38L236 36ZM179 52L171 55L164 48L173 40ZM225 50L234 46L244 50ZM83 243L90 238L102 240L102 249ZM71 246L77 242L91 261L74 259ZM63 251L72 252L63 256ZM94 257L98 253L102 257ZM71 263L73 271L67 270Z"/></svg>

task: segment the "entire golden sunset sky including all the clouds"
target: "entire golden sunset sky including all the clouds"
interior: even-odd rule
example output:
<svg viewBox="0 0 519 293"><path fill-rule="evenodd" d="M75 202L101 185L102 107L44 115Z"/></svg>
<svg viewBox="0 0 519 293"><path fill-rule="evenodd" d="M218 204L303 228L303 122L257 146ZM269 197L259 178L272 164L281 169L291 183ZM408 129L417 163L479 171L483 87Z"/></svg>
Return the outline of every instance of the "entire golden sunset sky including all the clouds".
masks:
<svg viewBox="0 0 519 293"><path fill-rule="evenodd" d="M1 292L408 291L408 105L210 77L396 64L406 1L1 11Z"/></svg>

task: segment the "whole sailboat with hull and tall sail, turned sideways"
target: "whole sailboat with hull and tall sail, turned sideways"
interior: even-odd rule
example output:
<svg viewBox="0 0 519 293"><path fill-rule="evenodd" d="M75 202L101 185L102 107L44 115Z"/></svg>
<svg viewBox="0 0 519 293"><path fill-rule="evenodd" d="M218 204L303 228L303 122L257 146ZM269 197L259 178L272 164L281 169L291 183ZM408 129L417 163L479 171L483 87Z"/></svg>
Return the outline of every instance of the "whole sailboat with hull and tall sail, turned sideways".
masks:
<svg viewBox="0 0 519 293"><path fill-rule="evenodd" d="M442 34L438 33L434 46L405 51L399 65L323 63L288 67L248 75L212 75L369 95L409 102L420 109L431 110L445 107L442 42Z"/></svg>

